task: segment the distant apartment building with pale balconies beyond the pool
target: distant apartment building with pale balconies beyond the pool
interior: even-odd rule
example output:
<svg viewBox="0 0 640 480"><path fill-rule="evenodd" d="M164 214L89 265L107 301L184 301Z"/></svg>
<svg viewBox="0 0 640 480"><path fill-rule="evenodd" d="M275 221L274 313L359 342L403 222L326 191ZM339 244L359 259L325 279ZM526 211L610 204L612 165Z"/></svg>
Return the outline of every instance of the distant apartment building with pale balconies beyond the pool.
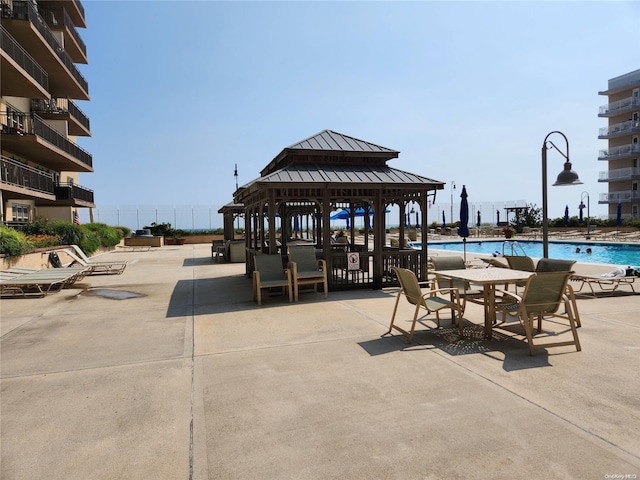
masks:
<svg viewBox="0 0 640 480"><path fill-rule="evenodd" d="M616 218L618 204L622 218L639 218L640 70L612 78L607 90L598 93L608 97L598 116L609 122L598 135L609 143L598 155L598 160L607 162L598 181L608 184L608 192L600 194L598 203L608 205L610 218Z"/></svg>

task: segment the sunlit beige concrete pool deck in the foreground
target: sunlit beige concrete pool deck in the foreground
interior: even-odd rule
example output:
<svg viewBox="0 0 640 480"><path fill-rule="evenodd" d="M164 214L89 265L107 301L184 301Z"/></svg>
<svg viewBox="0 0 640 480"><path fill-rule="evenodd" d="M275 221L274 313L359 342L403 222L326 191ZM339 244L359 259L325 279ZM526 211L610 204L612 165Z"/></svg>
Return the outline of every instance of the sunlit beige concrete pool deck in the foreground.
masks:
<svg viewBox="0 0 640 480"><path fill-rule="evenodd" d="M106 255L1 301L3 480L640 478L639 295L580 296L582 351L531 357L478 305L409 345L395 289L259 307L209 244Z"/></svg>

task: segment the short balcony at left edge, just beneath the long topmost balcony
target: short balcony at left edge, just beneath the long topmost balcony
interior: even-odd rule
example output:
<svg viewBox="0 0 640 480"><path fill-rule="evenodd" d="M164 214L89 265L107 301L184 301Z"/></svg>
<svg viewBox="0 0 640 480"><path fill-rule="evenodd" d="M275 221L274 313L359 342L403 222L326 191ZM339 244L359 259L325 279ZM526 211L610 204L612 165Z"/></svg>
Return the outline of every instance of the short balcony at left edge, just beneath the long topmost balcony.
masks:
<svg viewBox="0 0 640 480"><path fill-rule="evenodd" d="M49 77L4 27L0 31L2 94L14 97L49 98Z"/></svg>

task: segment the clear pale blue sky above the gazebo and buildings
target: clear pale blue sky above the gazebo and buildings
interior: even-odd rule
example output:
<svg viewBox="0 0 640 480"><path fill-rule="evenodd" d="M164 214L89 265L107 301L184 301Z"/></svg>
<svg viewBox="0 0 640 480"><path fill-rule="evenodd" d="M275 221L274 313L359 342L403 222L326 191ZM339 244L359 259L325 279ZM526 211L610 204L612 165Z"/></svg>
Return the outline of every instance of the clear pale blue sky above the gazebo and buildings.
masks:
<svg viewBox="0 0 640 480"><path fill-rule="evenodd" d="M462 185L470 204L542 206L541 147L561 131L583 185L549 217L592 216L607 169L608 80L640 68L640 2L84 0L91 100L77 102L97 209L209 207L325 129L400 152L388 165ZM549 137L566 153L559 134ZM452 188L455 183L456 189ZM85 214L85 213L83 213ZM222 216L213 215L213 226Z"/></svg>

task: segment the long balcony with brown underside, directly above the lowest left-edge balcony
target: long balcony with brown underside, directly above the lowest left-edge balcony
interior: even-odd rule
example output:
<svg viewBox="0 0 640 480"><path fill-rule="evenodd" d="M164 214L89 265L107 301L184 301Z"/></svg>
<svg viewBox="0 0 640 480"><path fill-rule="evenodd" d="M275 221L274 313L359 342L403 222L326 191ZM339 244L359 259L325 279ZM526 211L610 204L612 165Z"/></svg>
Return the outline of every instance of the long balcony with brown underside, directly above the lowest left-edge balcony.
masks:
<svg viewBox="0 0 640 480"><path fill-rule="evenodd" d="M56 171L92 172L91 154L35 113L0 114L2 149Z"/></svg>

